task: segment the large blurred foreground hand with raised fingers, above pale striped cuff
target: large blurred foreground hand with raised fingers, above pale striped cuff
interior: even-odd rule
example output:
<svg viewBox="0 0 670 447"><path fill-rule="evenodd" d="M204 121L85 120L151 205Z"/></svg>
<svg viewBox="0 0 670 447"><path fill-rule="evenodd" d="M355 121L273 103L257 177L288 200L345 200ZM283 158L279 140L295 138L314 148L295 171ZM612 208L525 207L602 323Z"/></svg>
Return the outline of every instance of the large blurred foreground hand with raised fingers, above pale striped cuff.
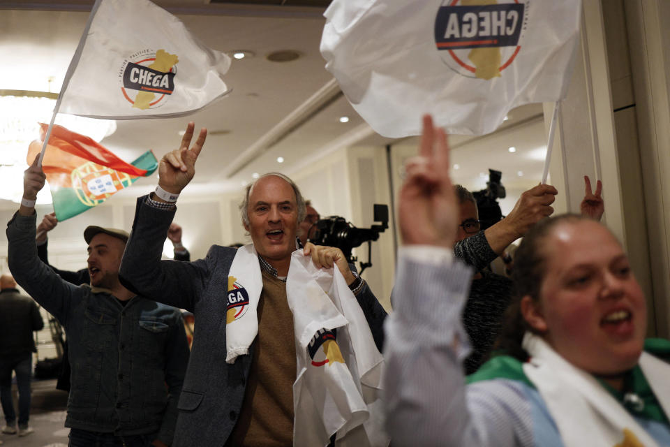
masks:
<svg viewBox="0 0 670 447"><path fill-rule="evenodd" d="M419 156L405 163L399 223L405 244L447 247L456 240L459 205L449 178L449 145L442 129L424 116Z"/></svg>

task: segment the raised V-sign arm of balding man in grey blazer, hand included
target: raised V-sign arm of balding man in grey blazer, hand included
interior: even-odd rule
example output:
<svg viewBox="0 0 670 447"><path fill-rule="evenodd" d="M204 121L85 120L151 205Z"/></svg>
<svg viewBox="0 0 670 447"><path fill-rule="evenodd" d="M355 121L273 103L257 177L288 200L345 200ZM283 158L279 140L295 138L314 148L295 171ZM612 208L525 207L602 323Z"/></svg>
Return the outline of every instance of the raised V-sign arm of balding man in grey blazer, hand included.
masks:
<svg viewBox="0 0 670 447"><path fill-rule="evenodd" d="M202 129L193 146L194 124L186 128L181 146L168 152L158 166L158 194L137 200L133 231L126 244L119 279L126 288L146 298L193 312L209 275L204 260L193 263L161 261L163 243L177 207L181 190L195 175L195 160L202 150L207 129ZM166 200L167 199L167 200Z"/></svg>

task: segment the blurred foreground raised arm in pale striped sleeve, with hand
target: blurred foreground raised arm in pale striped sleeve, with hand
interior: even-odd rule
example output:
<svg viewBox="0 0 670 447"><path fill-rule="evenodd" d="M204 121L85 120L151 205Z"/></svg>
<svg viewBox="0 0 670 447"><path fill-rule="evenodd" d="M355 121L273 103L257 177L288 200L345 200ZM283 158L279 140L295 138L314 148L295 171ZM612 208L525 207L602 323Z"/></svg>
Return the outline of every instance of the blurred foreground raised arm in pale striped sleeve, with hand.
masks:
<svg viewBox="0 0 670 447"><path fill-rule="evenodd" d="M470 396L464 383L468 335L461 310L471 270L452 256L459 210L446 137L430 117L420 156L406 170L399 196L404 246L385 328L387 430L399 446L515 445L502 406L485 394Z"/></svg>

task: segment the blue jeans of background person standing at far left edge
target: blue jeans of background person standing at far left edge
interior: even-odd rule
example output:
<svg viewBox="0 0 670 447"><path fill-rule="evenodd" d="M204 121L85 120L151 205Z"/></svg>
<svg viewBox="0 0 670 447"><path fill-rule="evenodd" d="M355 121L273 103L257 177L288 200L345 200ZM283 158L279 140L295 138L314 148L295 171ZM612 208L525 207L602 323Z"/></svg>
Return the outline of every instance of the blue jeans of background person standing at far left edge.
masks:
<svg viewBox="0 0 670 447"><path fill-rule="evenodd" d="M30 416L30 376L33 353L17 356L0 356L0 402L7 425L16 423L16 413L12 402L12 371L16 372L19 388L19 427L27 427Z"/></svg>

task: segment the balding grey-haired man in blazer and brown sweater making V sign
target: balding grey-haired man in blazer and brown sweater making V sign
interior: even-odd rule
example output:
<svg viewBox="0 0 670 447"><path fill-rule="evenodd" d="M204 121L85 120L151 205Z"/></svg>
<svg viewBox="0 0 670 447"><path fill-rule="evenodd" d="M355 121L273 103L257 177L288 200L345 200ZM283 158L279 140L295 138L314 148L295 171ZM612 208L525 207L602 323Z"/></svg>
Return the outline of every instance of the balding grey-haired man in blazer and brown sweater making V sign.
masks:
<svg viewBox="0 0 670 447"><path fill-rule="evenodd" d="M240 206L253 247L214 245L207 258L198 261L161 261L177 197L195 175L195 160L207 136L207 129L202 129L189 149L193 129L189 123L181 147L161 159L156 192L137 200L121 281L144 296L195 315L197 329L174 444L292 446L297 363L286 277L297 249L305 200L285 175L262 175L246 188ZM308 244L304 254L317 268L337 266L381 347L386 313L365 281L350 270L342 251ZM238 259L243 258L246 263L238 269ZM231 358L228 344L234 337L228 328L240 318L246 323L236 327L251 332L251 344Z"/></svg>

